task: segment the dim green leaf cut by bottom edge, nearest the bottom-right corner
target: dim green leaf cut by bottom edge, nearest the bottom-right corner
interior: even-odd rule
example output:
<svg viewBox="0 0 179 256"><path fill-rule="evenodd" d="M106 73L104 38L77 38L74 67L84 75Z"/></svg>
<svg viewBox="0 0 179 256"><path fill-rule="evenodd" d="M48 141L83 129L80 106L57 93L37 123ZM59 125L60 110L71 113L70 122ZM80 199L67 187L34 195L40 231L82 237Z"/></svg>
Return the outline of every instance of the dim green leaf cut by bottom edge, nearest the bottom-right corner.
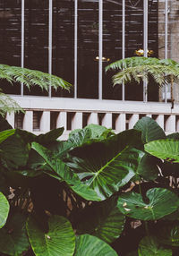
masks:
<svg viewBox="0 0 179 256"><path fill-rule="evenodd" d="M172 256L172 250L166 249L154 236L141 239L138 249L139 256Z"/></svg>

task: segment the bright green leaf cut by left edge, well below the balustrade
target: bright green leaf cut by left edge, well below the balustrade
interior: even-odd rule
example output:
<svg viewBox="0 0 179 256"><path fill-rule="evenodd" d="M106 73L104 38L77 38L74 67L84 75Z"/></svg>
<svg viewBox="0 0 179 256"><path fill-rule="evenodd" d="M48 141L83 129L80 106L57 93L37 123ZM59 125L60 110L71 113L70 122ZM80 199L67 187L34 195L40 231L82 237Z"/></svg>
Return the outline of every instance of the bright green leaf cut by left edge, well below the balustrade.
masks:
<svg viewBox="0 0 179 256"><path fill-rule="evenodd" d="M0 228L4 226L8 213L9 213L9 202L6 200L4 194L0 192Z"/></svg>

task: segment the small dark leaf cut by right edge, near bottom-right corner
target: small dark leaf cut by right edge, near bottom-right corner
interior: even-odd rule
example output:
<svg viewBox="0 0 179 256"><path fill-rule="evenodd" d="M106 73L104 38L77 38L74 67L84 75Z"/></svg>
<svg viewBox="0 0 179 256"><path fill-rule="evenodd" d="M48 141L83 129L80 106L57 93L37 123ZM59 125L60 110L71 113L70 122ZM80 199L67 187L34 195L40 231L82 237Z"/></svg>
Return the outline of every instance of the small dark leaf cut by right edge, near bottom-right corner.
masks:
<svg viewBox="0 0 179 256"><path fill-rule="evenodd" d="M164 243L172 246L179 246L179 226L170 225L164 226L158 229L158 240L160 243Z"/></svg>

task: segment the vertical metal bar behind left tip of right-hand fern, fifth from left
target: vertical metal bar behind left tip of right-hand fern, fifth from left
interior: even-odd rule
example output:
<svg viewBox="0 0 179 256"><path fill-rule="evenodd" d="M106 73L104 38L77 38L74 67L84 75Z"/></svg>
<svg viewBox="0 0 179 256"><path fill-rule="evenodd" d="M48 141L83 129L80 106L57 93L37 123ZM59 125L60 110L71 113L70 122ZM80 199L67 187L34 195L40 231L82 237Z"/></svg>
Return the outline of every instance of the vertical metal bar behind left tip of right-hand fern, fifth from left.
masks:
<svg viewBox="0 0 179 256"><path fill-rule="evenodd" d="M122 58L125 58L125 0L123 0ZM122 85L122 100L125 100L125 85Z"/></svg>

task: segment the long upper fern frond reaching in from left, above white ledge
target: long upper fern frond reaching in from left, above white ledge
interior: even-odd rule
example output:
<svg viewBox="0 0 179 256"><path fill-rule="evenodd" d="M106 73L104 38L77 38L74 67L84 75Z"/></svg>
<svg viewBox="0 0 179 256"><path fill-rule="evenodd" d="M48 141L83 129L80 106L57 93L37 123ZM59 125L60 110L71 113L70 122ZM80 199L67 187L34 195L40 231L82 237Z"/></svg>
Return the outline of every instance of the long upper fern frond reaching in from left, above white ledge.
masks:
<svg viewBox="0 0 179 256"><path fill-rule="evenodd" d="M42 90L48 90L49 85L55 88L55 90L58 87L70 90L72 86L68 81L64 81L64 79L49 73L6 64L0 64L0 79L5 79L11 83L23 83L28 88L38 85Z"/></svg>

